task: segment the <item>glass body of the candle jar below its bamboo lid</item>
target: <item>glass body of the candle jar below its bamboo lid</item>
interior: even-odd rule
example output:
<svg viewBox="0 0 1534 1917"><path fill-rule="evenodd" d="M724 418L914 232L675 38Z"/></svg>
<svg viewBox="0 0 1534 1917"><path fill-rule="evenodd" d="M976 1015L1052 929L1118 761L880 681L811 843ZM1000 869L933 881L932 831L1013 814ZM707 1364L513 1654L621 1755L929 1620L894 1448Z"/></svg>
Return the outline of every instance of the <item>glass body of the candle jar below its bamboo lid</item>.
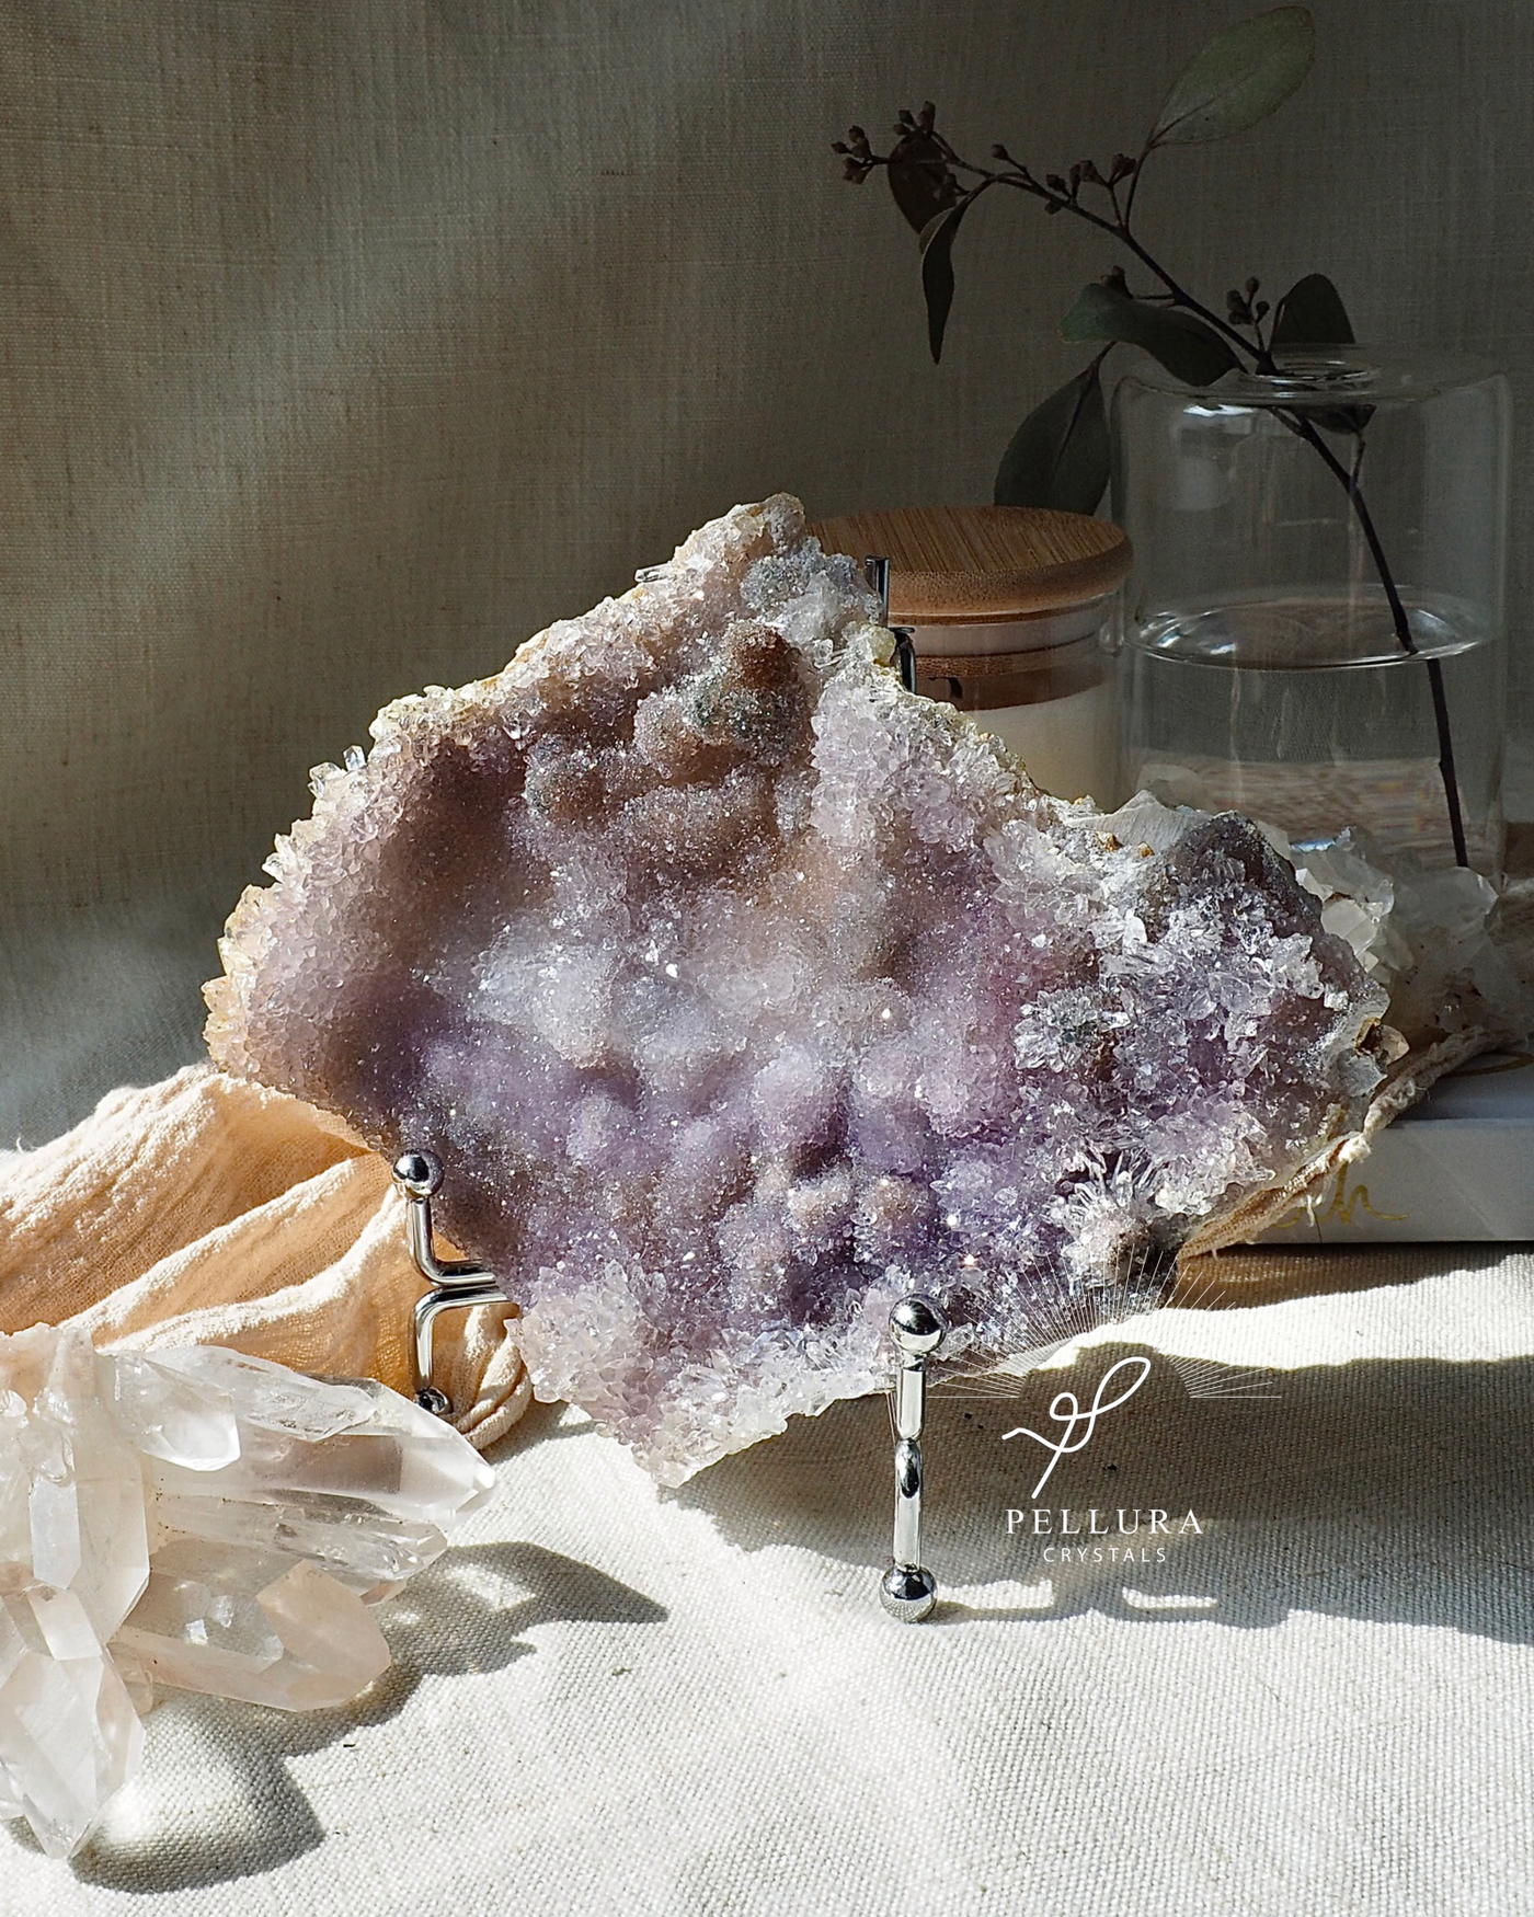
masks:
<svg viewBox="0 0 1534 1917"><path fill-rule="evenodd" d="M974 713L1045 792L1112 805L1116 608L1106 592L1011 621L913 625L917 692Z"/></svg>

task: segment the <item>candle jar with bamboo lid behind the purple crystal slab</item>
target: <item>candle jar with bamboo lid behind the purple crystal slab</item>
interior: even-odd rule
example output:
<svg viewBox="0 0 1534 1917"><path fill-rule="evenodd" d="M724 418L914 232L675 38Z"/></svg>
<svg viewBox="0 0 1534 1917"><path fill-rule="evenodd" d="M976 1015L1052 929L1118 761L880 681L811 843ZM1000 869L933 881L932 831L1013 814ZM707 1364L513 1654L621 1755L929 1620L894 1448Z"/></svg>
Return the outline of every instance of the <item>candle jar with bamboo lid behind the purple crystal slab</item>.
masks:
<svg viewBox="0 0 1534 1917"><path fill-rule="evenodd" d="M811 527L828 552L890 560L890 619L917 692L995 734L1057 797L1118 797L1116 638L1129 543L1032 506L859 512Z"/></svg>

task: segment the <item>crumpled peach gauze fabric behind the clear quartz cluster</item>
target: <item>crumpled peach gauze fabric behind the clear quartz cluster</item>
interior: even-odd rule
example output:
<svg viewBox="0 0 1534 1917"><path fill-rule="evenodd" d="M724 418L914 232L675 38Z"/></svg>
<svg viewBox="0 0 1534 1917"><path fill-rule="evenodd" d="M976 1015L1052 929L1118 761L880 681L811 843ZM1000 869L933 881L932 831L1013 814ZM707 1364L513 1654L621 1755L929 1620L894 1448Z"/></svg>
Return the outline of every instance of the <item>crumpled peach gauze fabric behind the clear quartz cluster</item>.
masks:
<svg viewBox="0 0 1534 1917"><path fill-rule="evenodd" d="M387 1166L336 1120L188 1066L0 1158L0 1330L226 1344L408 1394L422 1282L403 1225ZM499 1307L439 1319L435 1373L476 1445L531 1397Z"/></svg>

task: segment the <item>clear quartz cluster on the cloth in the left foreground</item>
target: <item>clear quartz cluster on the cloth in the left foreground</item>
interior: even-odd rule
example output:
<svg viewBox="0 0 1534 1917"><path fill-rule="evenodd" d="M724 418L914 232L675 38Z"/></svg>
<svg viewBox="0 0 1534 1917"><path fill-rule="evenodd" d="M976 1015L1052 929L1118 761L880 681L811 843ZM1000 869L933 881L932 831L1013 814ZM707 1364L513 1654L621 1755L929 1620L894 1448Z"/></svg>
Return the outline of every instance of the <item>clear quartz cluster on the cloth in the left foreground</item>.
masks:
<svg viewBox="0 0 1534 1917"><path fill-rule="evenodd" d="M155 1683L357 1697L389 1664L370 1605L491 1486L370 1380L0 1336L0 1815L77 1850L138 1767Z"/></svg>

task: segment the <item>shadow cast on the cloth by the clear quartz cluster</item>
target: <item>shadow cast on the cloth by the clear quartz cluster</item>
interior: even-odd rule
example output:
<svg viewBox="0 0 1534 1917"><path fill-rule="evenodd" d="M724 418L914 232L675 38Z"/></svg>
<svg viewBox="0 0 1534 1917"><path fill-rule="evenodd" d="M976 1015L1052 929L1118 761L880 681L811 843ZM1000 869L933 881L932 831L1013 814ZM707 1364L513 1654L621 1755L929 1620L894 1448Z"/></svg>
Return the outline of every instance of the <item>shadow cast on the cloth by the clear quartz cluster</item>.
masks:
<svg viewBox="0 0 1534 1917"><path fill-rule="evenodd" d="M314 1850L326 1835L288 1767L290 1758L395 1718L424 1677L504 1670L533 1652L525 1633L539 1624L663 1618L663 1606L642 1593L541 1545L449 1547L378 1610L395 1660L351 1704L290 1716L228 1698L167 1693L150 1718L151 1741L155 1729L180 1733L182 1743L199 1735L209 1762L238 1766L238 1804L222 1804L217 1825L188 1823L173 1804L155 1806L146 1819L148 1835L130 1836L109 1825L71 1859L71 1869L86 1884L140 1894L199 1890L270 1871ZM144 1789L153 1789L153 1750ZM8 1831L36 1848L25 1823Z"/></svg>

